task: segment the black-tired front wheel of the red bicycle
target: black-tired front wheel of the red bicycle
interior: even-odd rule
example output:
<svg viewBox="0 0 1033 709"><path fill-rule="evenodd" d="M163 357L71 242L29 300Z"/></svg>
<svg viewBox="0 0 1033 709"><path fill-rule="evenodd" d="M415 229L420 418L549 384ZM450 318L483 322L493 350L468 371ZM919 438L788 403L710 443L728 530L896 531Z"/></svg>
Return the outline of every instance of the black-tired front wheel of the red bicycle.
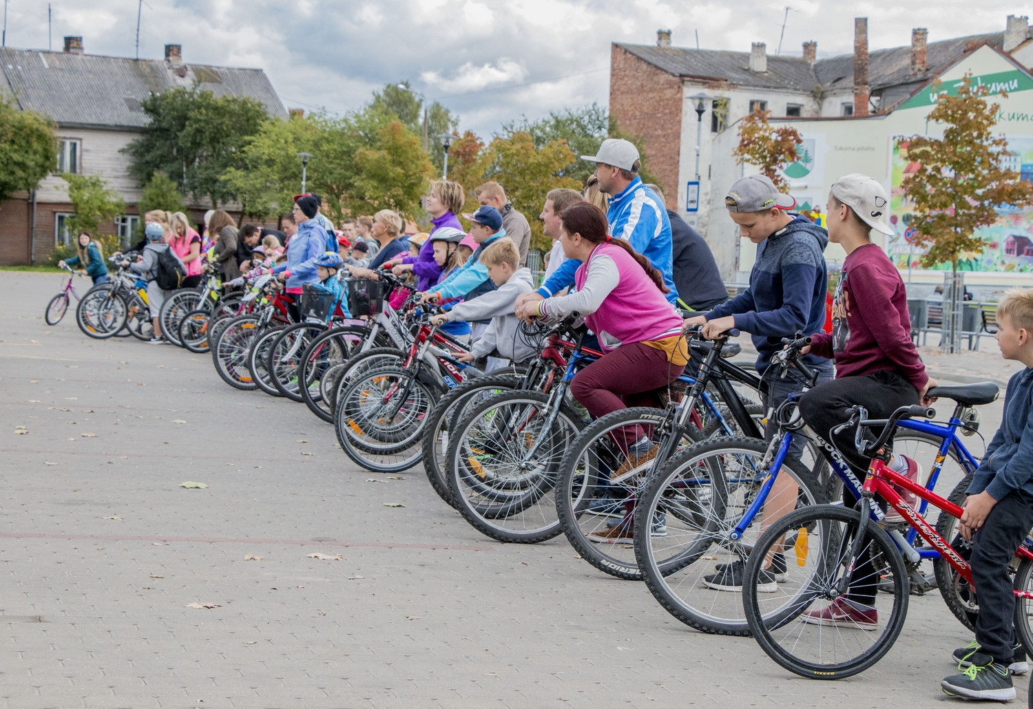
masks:
<svg viewBox="0 0 1033 709"><path fill-rule="evenodd" d="M743 606L746 610L746 617L749 620L750 631L760 647L772 659L786 670L802 677L811 679L843 679L851 677L877 663L893 644L904 627L904 619L907 616L909 599L909 583L907 568L904 557L889 535L869 520L866 525L867 534L865 541L865 551L872 559L873 578L870 584L874 584L878 578L887 580L893 585L893 592L873 590L874 614L870 617L875 627L865 629L858 623L844 633L834 629L822 633L824 625L815 622L807 622L807 617L814 611L823 611L824 601L835 603L851 603L849 590L842 600L822 598L831 588L835 581L840 567L845 561L847 552L853 540L851 529L856 530L860 520L860 509L847 509L837 505L815 505L795 510L775 521L756 544L756 551L751 554L749 562L746 565L746 576L743 584ZM792 572L792 577L806 577L801 592L793 594L788 605L783 602L786 593L758 593L757 584L760 579L760 572L769 552L774 549L782 549L788 556L789 548L785 541L791 533L796 533L796 540L793 548L796 556L796 565L786 565L786 573ZM801 534L806 534L808 540L806 545L801 544ZM819 551L815 552L814 547L818 546ZM810 571L800 572L800 569ZM858 566L859 570L862 567ZM885 573L883 573L885 572ZM856 573L856 572L855 572ZM825 578L828 577L828 578ZM787 579L785 585L788 586ZM794 584L795 585L795 584ZM817 593L816 589L823 588L822 593ZM761 607L760 597L768 597L773 603L764 604ZM783 598L775 598L782 595ZM882 622L886 612L885 606L890 601L889 619ZM771 609L776 603L782 603L781 607ZM817 608L813 606L817 603ZM879 608L881 604L881 610ZM856 603L851 605L856 606ZM871 608L871 607L869 607ZM766 612L765 612L766 610ZM872 613L872 610L868 611ZM805 613L808 616L805 616ZM813 617L813 616L811 616ZM880 629L881 626L881 629ZM868 634L866 631L873 631ZM777 634L777 636L776 636ZM795 634L795 637L791 636ZM817 636L818 648L801 649L804 643L802 640L805 634ZM821 647L821 643L827 638L827 645L833 647ZM847 650L845 645L857 645L860 639L871 640L871 645L856 654L847 657L852 651ZM786 645L782 644L786 641ZM839 647L843 645L844 647ZM824 662L828 658L828 662Z"/></svg>

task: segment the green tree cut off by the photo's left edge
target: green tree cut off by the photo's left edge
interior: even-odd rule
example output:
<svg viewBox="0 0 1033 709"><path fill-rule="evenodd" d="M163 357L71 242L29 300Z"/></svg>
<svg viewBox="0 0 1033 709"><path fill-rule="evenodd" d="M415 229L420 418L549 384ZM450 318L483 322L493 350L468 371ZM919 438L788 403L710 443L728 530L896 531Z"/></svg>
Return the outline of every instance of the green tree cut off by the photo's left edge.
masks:
<svg viewBox="0 0 1033 709"><path fill-rule="evenodd" d="M58 162L54 122L0 97L0 201L34 190Z"/></svg>

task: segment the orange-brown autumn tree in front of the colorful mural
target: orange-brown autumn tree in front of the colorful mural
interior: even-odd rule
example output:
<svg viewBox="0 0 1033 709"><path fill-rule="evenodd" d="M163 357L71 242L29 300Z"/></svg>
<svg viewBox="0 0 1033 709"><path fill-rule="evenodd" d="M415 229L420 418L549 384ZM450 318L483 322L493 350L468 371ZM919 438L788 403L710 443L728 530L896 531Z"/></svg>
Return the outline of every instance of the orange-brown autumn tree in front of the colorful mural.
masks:
<svg viewBox="0 0 1033 709"><path fill-rule="evenodd" d="M916 231L915 241L929 247L921 259L927 268L949 263L958 270L962 252L985 248L975 232L997 221L995 207L1033 204L1033 185L1004 168L1007 139L993 132L1000 105L988 103L987 95L987 87L973 88L967 73L958 95L940 94L927 117L943 124L942 138L899 138L920 165L901 186L914 203L908 226Z"/></svg>

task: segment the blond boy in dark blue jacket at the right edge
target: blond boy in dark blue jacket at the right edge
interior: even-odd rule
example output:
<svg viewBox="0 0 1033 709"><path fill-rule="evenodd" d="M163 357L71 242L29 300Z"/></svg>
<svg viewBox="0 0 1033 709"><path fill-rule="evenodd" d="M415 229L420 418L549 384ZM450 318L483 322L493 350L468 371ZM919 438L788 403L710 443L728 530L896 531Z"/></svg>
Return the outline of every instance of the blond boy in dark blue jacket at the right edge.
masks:
<svg viewBox="0 0 1033 709"><path fill-rule="evenodd" d="M1011 674L1028 669L1015 642L1008 565L1033 527L1033 291L1009 290L997 307L997 323L1001 356L1026 368L1008 380L1001 427L962 506L960 531L972 541L969 562L979 616L975 642L953 652L962 674L945 678L940 686L957 697L1007 702L1015 698Z"/></svg>

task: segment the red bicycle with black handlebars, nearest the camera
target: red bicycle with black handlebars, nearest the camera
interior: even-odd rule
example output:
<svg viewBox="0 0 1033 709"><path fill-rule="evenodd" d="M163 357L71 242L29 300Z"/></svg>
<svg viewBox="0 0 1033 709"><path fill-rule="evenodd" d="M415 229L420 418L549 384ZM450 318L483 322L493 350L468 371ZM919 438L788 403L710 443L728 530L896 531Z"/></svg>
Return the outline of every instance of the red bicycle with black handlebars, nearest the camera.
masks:
<svg viewBox="0 0 1033 709"><path fill-rule="evenodd" d="M908 579L920 560L901 534L909 525L974 588L965 554L952 546L962 547L964 541L943 539L900 492L951 517L961 518L962 508L888 465L893 451L887 441L897 422L934 415L932 409L913 406L875 420L855 407L841 429L855 425L857 450L872 456L857 506L801 508L773 522L754 546L743 584L746 617L760 647L786 670L813 679L841 679L867 670L889 650L904 626ZM866 442L865 429L878 426L884 428L875 443ZM886 520L883 509L890 508L899 515L890 518L903 521ZM1025 647L1033 647L1031 545L1027 539L1012 563L1015 632Z"/></svg>

